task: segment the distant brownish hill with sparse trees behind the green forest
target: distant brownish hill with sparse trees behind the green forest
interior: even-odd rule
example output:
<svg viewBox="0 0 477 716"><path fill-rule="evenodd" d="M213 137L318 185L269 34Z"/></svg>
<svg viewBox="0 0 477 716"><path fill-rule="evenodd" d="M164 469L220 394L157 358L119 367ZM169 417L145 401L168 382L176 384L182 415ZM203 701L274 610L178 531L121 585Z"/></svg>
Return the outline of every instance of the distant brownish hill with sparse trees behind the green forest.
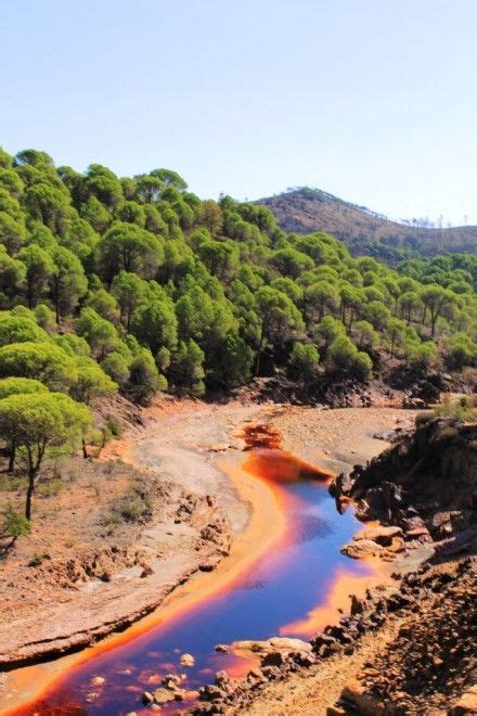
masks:
<svg viewBox="0 0 477 716"><path fill-rule="evenodd" d="M353 254L401 258L400 252L424 256L477 253L477 226L424 228L398 223L319 189L302 187L257 203L273 212L284 231L325 231L346 242Z"/></svg>

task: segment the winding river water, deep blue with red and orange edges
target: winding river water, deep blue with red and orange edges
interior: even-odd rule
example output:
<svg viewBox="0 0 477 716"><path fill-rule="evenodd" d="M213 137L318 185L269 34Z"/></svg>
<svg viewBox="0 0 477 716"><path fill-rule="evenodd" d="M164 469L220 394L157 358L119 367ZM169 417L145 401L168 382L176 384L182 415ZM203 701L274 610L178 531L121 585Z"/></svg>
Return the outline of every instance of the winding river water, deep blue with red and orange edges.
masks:
<svg viewBox="0 0 477 716"><path fill-rule="evenodd" d="M185 673L181 686L189 690L212 681L222 668L232 677L242 676L255 662L217 653L216 644L278 634L309 637L332 616L334 590L341 599L353 579L370 574L370 566L339 552L358 523L350 513L336 512L327 493L330 475L281 451L278 435L270 438L267 431L250 430L255 434L248 434L249 447L258 443L260 448L249 452L243 468L270 481L286 511L286 535L273 553L258 559L227 592L73 668L50 694L18 713L150 713L141 694L154 691L166 674ZM180 666L184 652L195 656L192 668ZM98 676L103 685L92 681ZM162 713L189 704L175 702Z"/></svg>

